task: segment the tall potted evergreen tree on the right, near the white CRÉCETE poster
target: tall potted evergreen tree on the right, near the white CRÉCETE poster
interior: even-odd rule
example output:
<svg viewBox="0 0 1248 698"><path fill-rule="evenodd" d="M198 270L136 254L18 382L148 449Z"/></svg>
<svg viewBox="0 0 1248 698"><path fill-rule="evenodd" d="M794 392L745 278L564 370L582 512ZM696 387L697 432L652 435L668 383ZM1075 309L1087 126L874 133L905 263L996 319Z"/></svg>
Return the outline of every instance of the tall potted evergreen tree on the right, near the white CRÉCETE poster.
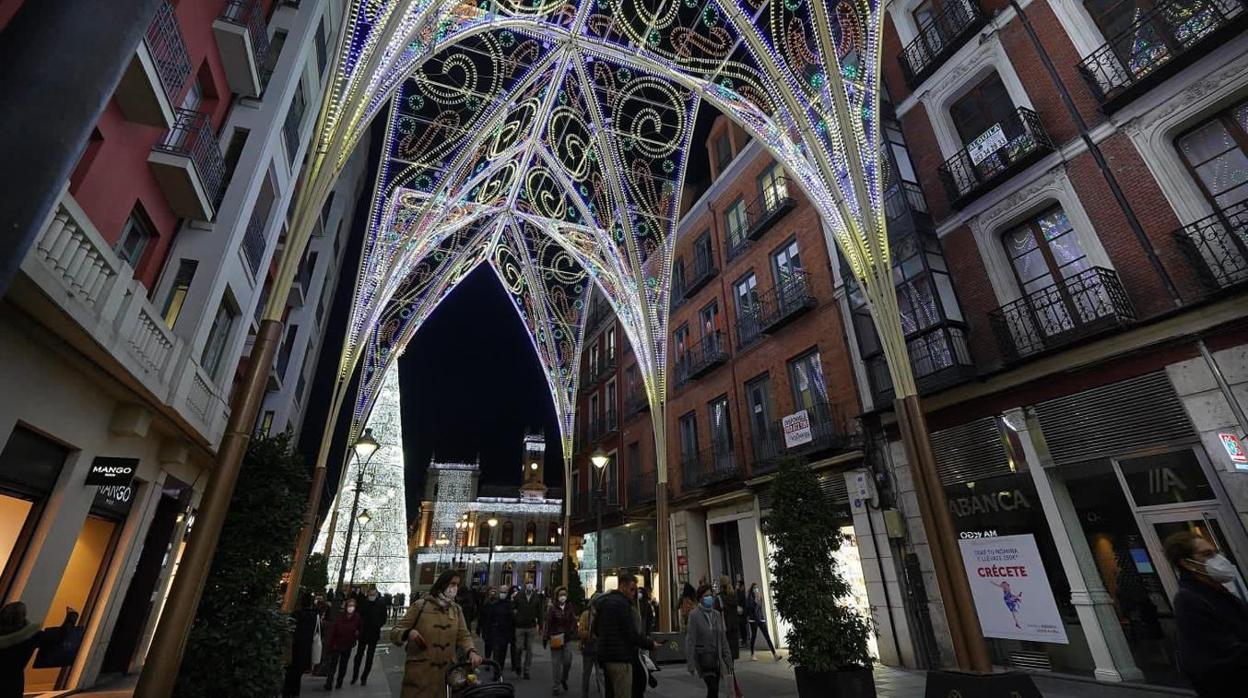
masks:
<svg viewBox="0 0 1248 698"><path fill-rule="evenodd" d="M849 582L834 553L844 542L819 478L796 461L771 483L763 531L771 543L771 594L790 626L785 639L801 698L875 696L867 639L874 621L847 603Z"/></svg>

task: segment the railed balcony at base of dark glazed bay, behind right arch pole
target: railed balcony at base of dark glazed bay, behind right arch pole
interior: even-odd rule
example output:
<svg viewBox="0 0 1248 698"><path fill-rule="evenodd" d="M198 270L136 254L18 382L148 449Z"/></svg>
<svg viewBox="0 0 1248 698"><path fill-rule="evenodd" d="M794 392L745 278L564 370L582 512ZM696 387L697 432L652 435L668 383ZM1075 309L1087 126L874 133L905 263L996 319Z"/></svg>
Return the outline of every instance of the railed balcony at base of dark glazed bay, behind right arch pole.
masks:
<svg viewBox="0 0 1248 698"><path fill-rule="evenodd" d="M906 338L906 352L921 395L975 376L975 363L966 343L966 327L960 322L946 321L911 335ZM896 395L892 391L889 363L882 353L866 360L866 372L875 401L891 402Z"/></svg>

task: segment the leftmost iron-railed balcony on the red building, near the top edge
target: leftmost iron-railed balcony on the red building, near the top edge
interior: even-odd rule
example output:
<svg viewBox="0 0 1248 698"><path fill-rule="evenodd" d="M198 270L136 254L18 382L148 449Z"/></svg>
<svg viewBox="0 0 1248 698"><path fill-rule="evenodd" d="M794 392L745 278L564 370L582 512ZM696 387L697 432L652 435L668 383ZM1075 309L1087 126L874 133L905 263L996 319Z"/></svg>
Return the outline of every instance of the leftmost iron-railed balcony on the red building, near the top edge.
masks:
<svg viewBox="0 0 1248 698"><path fill-rule="evenodd" d="M191 75L191 56L177 26L173 7L167 1L156 6L144 40L112 96L126 119L136 124L170 129L186 80Z"/></svg>

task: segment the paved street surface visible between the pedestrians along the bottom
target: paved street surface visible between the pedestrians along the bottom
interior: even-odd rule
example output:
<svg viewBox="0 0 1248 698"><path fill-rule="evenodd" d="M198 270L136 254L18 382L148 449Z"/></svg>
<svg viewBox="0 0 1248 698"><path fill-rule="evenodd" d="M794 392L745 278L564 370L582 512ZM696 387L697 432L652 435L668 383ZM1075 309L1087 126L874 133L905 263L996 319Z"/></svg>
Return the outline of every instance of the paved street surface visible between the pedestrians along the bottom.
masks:
<svg viewBox="0 0 1248 698"><path fill-rule="evenodd" d="M479 641L478 641L479 646ZM694 698L705 696L705 688L700 681L689 676L684 666L666 664L660 667L659 687L646 691L648 697L654 698ZM386 681L379 681L379 674ZM572 696L578 697L580 692L580 657L577 657L569 677ZM333 694L343 698L399 698L403 681L402 654L393 646L379 646L377 661L373 664L373 681L367 687L343 684L342 691ZM741 691L746 698L796 698L797 687L794 683L792 668L787 662L773 662L770 657L759 654L758 662L750 662L748 656L738 663L738 678ZM533 656L533 678L520 679L510 668L504 672L504 679L515 687L517 698L545 698L550 696L550 654L540 646ZM347 677L349 681L349 674ZM306 696L323 694L322 678L306 677L303 679L303 692ZM876 693L881 698L910 698L924 694L926 686L922 672L894 669L879 667L875 672ZM1056 677L1036 677L1037 687L1045 698L1161 698L1162 696L1191 696L1189 692L1161 692L1148 691L1138 687L1112 687L1103 683L1088 681L1072 681ZM590 696L599 697L600 692L593 691ZM720 692L720 696L728 696Z"/></svg>

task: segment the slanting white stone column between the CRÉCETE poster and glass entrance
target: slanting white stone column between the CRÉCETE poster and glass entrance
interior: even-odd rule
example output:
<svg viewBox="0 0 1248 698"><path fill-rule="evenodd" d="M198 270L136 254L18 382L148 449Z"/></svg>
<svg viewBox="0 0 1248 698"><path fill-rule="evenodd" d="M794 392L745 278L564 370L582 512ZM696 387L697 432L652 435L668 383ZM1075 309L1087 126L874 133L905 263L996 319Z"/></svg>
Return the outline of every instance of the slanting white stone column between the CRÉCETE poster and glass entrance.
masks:
<svg viewBox="0 0 1248 698"><path fill-rule="evenodd" d="M1131 656L1127 637L1122 633L1122 624L1113 609L1113 599L1101 581L1101 573L1093 562L1096 558L1088 548L1066 483L1050 474L1047 468L1052 463L1041 456L1042 452L1047 455L1048 450L1042 446L1040 425L1028 422L1021 408L1008 410L1002 416L1007 428L1018 433L1022 456L1036 484L1036 497L1045 512L1057 557L1062 561L1066 581L1071 586L1071 604L1078 613L1080 627L1083 628L1092 653L1096 666L1093 676L1107 682L1142 679L1144 674Z"/></svg>

